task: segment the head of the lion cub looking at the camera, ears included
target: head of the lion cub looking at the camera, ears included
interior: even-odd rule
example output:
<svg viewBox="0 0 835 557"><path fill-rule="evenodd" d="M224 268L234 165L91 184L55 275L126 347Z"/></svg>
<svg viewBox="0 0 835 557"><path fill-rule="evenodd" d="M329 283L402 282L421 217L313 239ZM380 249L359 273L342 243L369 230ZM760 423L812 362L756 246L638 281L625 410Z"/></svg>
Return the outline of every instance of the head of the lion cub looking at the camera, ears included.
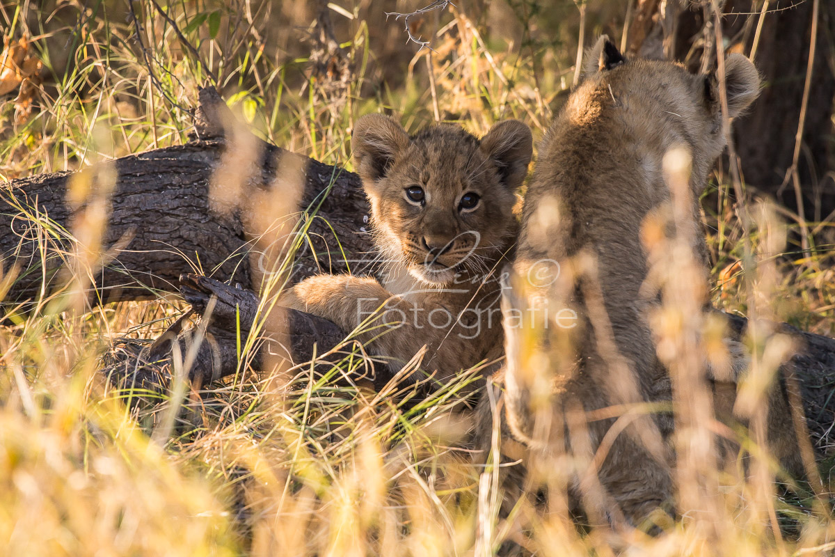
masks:
<svg viewBox="0 0 835 557"><path fill-rule="evenodd" d="M352 149L377 247L418 281L444 286L460 273L483 275L513 241L514 192L533 149L521 122L496 124L480 140L451 125L409 137L369 114L357 121Z"/></svg>

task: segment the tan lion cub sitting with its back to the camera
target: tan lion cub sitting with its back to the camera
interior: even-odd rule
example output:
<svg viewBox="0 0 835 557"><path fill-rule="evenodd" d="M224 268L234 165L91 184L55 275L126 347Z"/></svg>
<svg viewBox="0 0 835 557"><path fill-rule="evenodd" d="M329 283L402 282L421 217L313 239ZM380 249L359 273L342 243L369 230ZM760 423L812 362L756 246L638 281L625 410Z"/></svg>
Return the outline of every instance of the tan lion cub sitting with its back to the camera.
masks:
<svg viewBox="0 0 835 557"><path fill-rule="evenodd" d="M538 329L506 330L509 427L546 456L576 454L569 442L576 439L572 408L590 413L618 403L671 400L670 377L655 355L647 320L659 302L642 290L648 263L641 226L670 200L662 159L676 147L691 155L691 220L698 222L698 197L726 144L715 76L693 75L676 63L624 60L607 40L592 49L584 80L539 150L514 264L521 290L509 299L511 309L544 304L553 316L564 306L579 317L572 329L539 322ZM726 73L734 117L756 99L759 78L739 55L726 59ZM693 237L696 258L706 265L703 236ZM526 284L538 261L559 262L548 286ZM520 354L531 336L538 356L525 360ZM549 378L549 389L542 377ZM671 453L662 440L673 424L669 414L653 418L638 419L615 439L598 471L601 489L594 489L593 479L576 480L576 494L590 514L637 525L671 501ZM592 450L613 423L587 424Z"/></svg>

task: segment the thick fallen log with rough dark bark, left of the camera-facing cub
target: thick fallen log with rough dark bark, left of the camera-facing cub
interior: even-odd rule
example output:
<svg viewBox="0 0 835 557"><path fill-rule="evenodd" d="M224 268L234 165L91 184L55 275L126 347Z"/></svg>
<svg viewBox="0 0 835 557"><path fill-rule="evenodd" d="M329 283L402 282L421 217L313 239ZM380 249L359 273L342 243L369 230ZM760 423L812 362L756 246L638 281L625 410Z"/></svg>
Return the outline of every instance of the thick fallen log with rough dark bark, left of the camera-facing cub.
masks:
<svg viewBox="0 0 835 557"><path fill-rule="evenodd" d="M247 187L271 187L278 171L276 161L287 153L263 142L261 147L261 172L250 177ZM237 282L247 288L257 286L252 284L246 257L251 246L240 215L223 214L210 207L210 180L224 149L222 139L197 140L114 161L117 180L103 239L109 261L94 274L101 301L176 293L180 275L199 270L220 281ZM310 241L303 244L297 258L294 281L316 272L346 271L343 260L360 260L370 247L367 234L362 232L368 206L359 177L316 160L302 159L305 189L298 210L306 210L323 196L324 200L319 207L320 218L311 221ZM95 175L94 190L100 187L100 173L86 175ZM84 209L81 205L73 210L67 201L71 176L33 176L0 186L0 230L5 230L0 234L0 257L5 270L13 266L22 270L4 305L35 299L44 280L47 294L65 282L58 270L66 265L66 254L73 252L73 241L66 230L73 230L73 216ZM24 210L37 210L57 225L55 234L48 237L45 265L38 243L38 236L44 234L32 230ZM340 246L347 257L342 257Z"/></svg>

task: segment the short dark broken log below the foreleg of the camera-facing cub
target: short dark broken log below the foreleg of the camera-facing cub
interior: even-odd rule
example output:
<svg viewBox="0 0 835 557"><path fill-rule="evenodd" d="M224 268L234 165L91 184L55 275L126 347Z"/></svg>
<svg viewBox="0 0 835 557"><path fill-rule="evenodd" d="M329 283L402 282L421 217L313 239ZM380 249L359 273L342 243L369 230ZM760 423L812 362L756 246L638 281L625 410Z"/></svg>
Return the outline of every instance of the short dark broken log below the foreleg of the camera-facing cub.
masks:
<svg viewBox="0 0 835 557"><path fill-rule="evenodd" d="M245 365L241 363L256 369L262 366L263 342L250 353L242 352L251 332L261 329L259 321L264 311L254 292L199 275L181 276L180 292L191 305L189 313L154 342L125 339L116 342L105 355L103 372L117 387L144 392L169 389L176 375L174 344L180 360L185 360L195 346L194 359L185 376L196 385L242 372ZM185 329L184 322L192 313L199 316L197 325ZM357 355L357 346L346 342L345 332L309 313L287 308L272 311L270 329L262 335L274 337L272 347L281 346L272 356L280 358L285 369L312 361L314 370L323 375L334 370L335 364L345 357ZM357 356L358 365L349 377L341 374L342 382L366 381L382 387L393 377L385 362ZM271 364L275 366L275 362Z"/></svg>

